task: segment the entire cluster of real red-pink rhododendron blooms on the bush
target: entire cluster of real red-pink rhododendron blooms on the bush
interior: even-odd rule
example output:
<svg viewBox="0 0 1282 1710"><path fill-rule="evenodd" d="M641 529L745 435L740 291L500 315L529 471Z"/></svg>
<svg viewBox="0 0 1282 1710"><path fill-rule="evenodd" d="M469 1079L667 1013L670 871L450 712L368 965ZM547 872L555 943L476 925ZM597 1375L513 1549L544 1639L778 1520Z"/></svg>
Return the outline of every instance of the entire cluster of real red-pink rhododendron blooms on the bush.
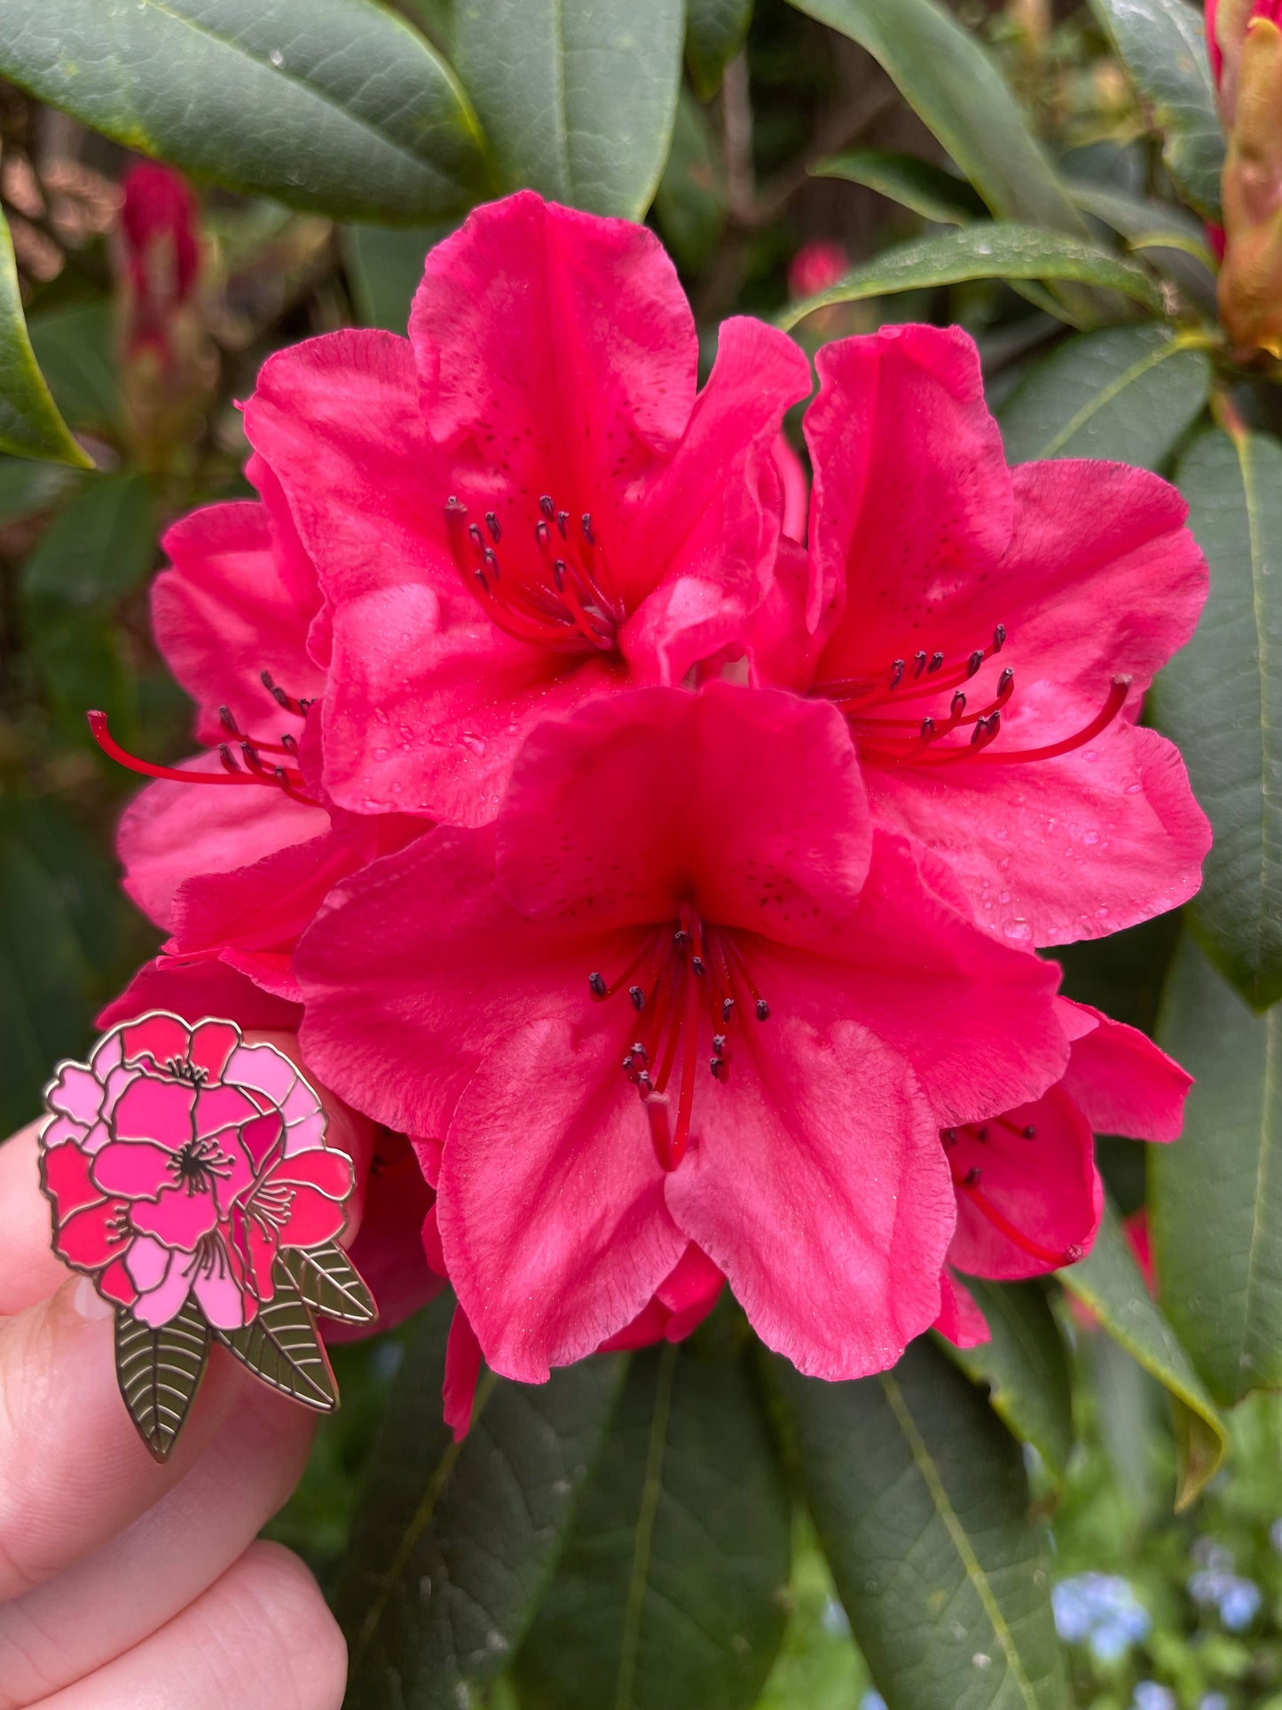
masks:
<svg viewBox="0 0 1282 1710"><path fill-rule="evenodd" d="M265 364L260 503L169 532L205 752L96 722L161 780L120 848L169 932L106 1019L301 1031L381 1125L374 1291L456 1291L458 1424L482 1353L538 1382L726 1279L824 1378L981 1339L957 1272L1085 1252L1092 1129L1179 1130L1188 1077L1034 951L1198 884L1138 723L1205 595L1183 501L1009 469L959 330L820 351L809 489L802 352L735 318L696 364L644 227L479 209L409 339Z"/></svg>

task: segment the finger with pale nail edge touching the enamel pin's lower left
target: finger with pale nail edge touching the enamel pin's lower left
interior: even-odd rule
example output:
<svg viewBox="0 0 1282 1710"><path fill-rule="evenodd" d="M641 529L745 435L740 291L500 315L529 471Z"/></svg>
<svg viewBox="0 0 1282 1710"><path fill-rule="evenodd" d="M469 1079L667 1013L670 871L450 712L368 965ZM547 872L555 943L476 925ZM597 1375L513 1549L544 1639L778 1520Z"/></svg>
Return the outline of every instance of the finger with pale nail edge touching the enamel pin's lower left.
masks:
<svg viewBox="0 0 1282 1710"><path fill-rule="evenodd" d="M0 1604L99 1549L195 1465L253 1380L215 1347L166 1465L116 1385L111 1308L89 1277L0 1325Z"/></svg>

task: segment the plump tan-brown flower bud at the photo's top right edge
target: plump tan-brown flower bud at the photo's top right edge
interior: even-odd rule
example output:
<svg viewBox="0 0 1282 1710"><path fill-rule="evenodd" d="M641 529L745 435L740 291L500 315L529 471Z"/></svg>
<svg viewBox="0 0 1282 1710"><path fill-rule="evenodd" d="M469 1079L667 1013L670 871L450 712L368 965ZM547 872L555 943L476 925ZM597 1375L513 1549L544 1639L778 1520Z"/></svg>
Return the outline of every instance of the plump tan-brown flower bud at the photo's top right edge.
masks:
<svg viewBox="0 0 1282 1710"><path fill-rule="evenodd" d="M1282 356L1282 29L1261 5L1282 12L1282 0L1256 0L1241 43L1224 161L1219 304L1238 349ZM1220 0L1220 22L1224 14Z"/></svg>

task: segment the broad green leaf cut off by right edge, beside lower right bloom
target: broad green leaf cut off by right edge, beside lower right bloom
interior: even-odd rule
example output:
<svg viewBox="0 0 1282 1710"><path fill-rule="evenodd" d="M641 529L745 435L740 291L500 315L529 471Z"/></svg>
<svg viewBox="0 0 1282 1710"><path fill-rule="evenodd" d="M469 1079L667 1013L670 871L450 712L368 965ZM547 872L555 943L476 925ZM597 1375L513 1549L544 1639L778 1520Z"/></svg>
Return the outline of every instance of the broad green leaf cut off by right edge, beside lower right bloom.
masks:
<svg viewBox="0 0 1282 1710"><path fill-rule="evenodd" d="M1162 1048L1195 1077L1149 1158L1162 1303L1226 1407L1282 1389L1282 1005L1255 1016L1186 935Z"/></svg>

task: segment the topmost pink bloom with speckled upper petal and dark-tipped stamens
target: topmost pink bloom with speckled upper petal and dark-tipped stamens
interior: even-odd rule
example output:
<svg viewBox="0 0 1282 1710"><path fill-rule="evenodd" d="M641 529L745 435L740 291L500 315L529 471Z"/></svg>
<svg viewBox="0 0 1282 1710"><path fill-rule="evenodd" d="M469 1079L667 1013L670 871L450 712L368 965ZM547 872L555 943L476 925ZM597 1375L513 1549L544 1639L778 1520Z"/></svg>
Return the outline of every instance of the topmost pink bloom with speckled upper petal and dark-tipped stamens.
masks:
<svg viewBox="0 0 1282 1710"><path fill-rule="evenodd" d="M332 612L323 785L491 819L535 722L742 648L771 587L783 333L697 339L656 238L532 192L427 256L410 337L282 351L246 405Z"/></svg>

